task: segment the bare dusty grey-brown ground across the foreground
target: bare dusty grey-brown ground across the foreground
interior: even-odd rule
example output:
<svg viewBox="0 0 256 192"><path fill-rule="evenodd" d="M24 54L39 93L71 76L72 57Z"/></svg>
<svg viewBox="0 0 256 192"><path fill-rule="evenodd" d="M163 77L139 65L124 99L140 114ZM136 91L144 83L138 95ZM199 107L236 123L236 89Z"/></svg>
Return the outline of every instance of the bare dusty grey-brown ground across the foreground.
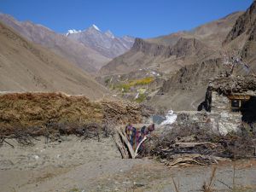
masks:
<svg viewBox="0 0 256 192"><path fill-rule="evenodd" d="M167 168L156 160L122 160L111 137L83 140L62 137L44 143L38 137L32 147L0 148L0 191L201 191L209 182L213 166ZM234 177L235 167L235 177ZM239 160L217 166L212 188L230 191L236 187L256 189L256 161Z"/></svg>

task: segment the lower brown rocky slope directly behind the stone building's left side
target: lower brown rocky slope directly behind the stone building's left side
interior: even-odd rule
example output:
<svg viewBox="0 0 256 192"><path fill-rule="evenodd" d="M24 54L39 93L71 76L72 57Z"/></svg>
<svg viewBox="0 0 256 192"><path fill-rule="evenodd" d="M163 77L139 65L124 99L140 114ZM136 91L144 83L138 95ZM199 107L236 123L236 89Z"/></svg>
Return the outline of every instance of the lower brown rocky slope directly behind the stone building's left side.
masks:
<svg viewBox="0 0 256 192"><path fill-rule="evenodd" d="M170 108L177 111L196 110L204 101L207 84L212 77L229 70L222 63L218 58L182 67L166 79L160 90L147 102L164 111Z"/></svg>

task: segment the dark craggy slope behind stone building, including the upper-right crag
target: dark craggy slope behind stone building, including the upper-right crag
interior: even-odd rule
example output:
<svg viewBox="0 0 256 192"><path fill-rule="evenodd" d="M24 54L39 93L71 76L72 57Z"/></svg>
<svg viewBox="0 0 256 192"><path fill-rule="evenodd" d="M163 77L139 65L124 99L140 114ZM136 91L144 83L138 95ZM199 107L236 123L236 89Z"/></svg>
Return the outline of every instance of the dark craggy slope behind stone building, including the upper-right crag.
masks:
<svg viewBox="0 0 256 192"><path fill-rule="evenodd" d="M233 75L255 75L255 29L256 2L254 1L250 8L238 17L224 38L221 48L227 53L226 56L182 67L175 75L166 80L158 94L148 103L153 103L161 108L172 106L176 110L196 109L198 104L203 101L207 83L217 75L225 76L226 73L230 73L232 64L235 66ZM232 59L229 61L225 57L233 58L233 62Z"/></svg>

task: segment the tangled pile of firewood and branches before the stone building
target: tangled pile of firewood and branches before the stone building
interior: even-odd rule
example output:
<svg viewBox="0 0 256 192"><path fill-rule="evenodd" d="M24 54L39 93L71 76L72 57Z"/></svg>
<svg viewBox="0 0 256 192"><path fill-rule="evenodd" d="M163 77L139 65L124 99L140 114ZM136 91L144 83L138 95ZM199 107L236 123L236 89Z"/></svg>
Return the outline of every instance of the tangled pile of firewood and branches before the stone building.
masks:
<svg viewBox="0 0 256 192"><path fill-rule="evenodd" d="M228 134L219 136L187 127L149 137L143 156L152 156L166 166L218 164L222 160L256 157L256 137Z"/></svg>

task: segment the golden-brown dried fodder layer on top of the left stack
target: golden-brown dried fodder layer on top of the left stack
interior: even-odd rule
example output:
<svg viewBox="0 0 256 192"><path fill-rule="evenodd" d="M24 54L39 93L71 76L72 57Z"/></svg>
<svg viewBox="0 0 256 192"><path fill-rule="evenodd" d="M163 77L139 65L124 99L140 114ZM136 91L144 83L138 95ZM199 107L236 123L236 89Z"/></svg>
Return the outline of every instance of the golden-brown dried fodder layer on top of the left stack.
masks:
<svg viewBox="0 0 256 192"><path fill-rule="evenodd" d="M0 125L34 126L62 122L102 122L102 106L85 96L13 93L0 96Z"/></svg>

